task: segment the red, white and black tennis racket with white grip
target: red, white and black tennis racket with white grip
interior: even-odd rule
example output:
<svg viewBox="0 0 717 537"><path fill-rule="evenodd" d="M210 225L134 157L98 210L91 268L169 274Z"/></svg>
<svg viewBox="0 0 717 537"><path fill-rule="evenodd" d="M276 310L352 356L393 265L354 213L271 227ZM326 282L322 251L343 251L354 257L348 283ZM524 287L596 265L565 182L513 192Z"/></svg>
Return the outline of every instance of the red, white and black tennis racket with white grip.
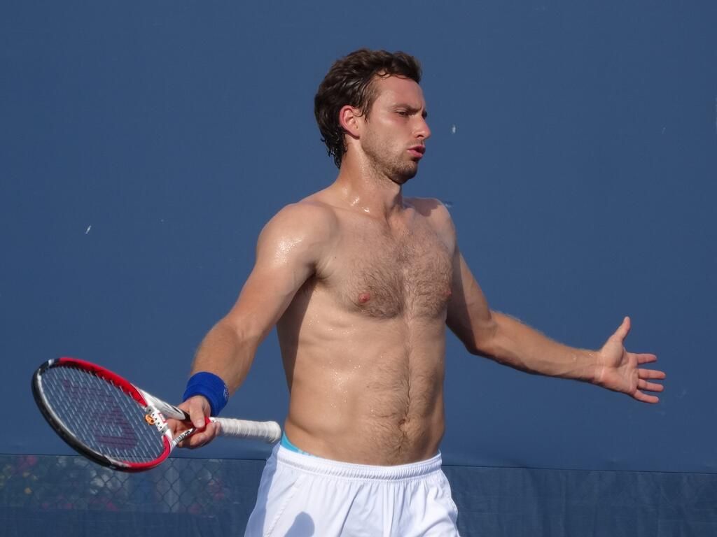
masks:
<svg viewBox="0 0 717 537"><path fill-rule="evenodd" d="M172 436L168 417L189 414L149 395L118 374L84 360L57 358L32 376L32 395L55 432L80 455L123 472L161 464L194 428ZM277 442L277 422L210 417L219 435Z"/></svg>

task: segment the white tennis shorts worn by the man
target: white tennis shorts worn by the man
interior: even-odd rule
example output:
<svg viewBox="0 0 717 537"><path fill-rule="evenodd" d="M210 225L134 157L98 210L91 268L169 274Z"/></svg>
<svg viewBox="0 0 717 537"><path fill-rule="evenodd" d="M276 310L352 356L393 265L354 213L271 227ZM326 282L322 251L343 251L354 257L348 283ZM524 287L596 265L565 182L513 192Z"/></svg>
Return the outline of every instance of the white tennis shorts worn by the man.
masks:
<svg viewBox="0 0 717 537"><path fill-rule="evenodd" d="M457 516L440 453L420 463L370 466L277 444L244 536L454 537Z"/></svg>

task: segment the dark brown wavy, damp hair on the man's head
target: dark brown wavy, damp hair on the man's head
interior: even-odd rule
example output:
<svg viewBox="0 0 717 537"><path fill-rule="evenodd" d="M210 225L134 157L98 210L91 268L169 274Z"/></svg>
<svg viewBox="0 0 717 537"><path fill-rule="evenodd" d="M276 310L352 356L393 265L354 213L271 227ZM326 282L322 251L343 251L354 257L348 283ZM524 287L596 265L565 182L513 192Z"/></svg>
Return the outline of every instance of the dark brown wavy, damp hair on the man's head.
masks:
<svg viewBox="0 0 717 537"><path fill-rule="evenodd" d="M321 141L328 154L333 155L336 168L346 153L344 130L338 121L338 112L345 105L361 110L369 117L376 100L376 77L404 77L421 82L421 64L405 52L359 49L336 60L319 84L314 97L314 115L321 132Z"/></svg>

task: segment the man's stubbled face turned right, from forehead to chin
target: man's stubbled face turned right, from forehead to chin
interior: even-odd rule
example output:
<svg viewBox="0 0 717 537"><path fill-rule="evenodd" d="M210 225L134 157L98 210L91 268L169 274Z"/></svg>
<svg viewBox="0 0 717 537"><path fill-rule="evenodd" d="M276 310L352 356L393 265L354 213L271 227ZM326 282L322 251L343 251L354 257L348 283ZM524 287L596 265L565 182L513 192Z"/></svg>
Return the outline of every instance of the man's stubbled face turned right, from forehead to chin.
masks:
<svg viewBox="0 0 717 537"><path fill-rule="evenodd" d="M364 118L361 147L379 173L402 185L416 175L431 135L421 87L411 79L379 78L376 100Z"/></svg>

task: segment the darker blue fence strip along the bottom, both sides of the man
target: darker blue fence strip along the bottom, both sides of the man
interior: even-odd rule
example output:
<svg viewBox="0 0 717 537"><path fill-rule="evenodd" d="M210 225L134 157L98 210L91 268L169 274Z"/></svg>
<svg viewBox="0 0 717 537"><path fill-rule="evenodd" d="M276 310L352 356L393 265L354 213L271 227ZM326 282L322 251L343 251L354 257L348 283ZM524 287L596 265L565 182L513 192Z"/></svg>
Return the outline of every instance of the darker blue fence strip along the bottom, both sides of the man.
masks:
<svg viewBox="0 0 717 537"><path fill-rule="evenodd" d="M0 537L242 536L264 460L0 455ZM717 475L445 466L462 536L713 537ZM315 536L320 537L320 536Z"/></svg>

